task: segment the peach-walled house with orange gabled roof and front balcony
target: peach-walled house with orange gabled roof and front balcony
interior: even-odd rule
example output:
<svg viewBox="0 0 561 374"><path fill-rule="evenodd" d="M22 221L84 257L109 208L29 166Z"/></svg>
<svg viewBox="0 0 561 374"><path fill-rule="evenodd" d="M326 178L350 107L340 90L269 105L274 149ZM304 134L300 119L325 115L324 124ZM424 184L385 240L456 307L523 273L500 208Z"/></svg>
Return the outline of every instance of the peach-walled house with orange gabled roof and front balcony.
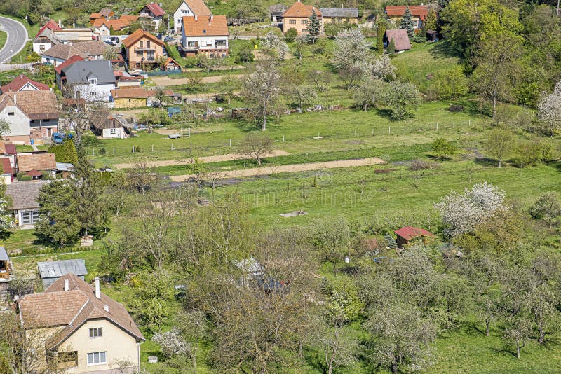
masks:
<svg viewBox="0 0 561 374"><path fill-rule="evenodd" d="M144 64L156 64L161 57L167 57L163 41L143 29L137 29L123 39L123 46L130 69L140 69Z"/></svg>

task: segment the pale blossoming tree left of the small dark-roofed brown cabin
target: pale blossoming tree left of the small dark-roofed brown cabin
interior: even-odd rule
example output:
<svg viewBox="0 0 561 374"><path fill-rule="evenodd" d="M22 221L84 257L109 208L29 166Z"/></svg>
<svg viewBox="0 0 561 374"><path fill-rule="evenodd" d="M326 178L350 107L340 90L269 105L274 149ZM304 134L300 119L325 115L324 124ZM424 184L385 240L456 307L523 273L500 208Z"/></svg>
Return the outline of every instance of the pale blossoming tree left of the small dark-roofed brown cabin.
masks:
<svg viewBox="0 0 561 374"><path fill-rule="evenodd" d="M335 36L332 64L342 70L354 62L367 59L369 46L360 29L346 29Z"/></svg>

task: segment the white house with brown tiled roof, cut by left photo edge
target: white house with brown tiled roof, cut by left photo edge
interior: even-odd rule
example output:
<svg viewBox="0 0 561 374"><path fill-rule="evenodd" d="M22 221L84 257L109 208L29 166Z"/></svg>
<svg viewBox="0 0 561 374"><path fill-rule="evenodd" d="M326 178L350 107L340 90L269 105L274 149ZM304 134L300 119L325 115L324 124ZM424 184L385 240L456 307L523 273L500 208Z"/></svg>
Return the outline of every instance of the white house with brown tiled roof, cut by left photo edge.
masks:
<svg viewBox="0 0 561 374"><path fill-rule="evenodd" d="M31 139L50 138L58 132L57 97L51 91L3 92L0 119L10 123L5 140L29 144Z"/></svg>

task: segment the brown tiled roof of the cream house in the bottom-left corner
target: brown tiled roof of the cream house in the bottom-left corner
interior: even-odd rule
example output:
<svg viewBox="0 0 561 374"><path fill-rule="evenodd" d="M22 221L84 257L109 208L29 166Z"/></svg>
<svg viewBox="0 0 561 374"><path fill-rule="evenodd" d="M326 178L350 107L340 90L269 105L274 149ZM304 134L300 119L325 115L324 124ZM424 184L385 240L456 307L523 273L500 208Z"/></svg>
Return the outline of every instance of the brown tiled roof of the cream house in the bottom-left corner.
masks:
<svg viewBox="0 0 561 374"><path fill-rule="evenodd" d="M65 280L69 282L68 291L64 290ZM48 340L48 348L60 345L88 319L107 319L136 340L144 340L121 303L104 293L96 298L95 289L71 273L62 275L43 293L23 296L18 305L24 327L65 326Z"/></svg>

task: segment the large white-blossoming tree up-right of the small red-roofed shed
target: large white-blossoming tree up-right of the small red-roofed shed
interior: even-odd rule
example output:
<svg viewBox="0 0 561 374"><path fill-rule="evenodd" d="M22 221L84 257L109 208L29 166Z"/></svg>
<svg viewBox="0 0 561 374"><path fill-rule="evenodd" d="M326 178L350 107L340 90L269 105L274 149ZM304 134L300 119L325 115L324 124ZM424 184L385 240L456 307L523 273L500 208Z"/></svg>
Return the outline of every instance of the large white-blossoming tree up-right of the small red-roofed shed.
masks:
<svg viewBox="0 0 561 374"><path fill-rule="evenodd" d="M447 235L468 233L494 212L508 209L503 205L504 191L492 183L475 184L463 194L452 191L435 205L440 211Z"/></svg>

